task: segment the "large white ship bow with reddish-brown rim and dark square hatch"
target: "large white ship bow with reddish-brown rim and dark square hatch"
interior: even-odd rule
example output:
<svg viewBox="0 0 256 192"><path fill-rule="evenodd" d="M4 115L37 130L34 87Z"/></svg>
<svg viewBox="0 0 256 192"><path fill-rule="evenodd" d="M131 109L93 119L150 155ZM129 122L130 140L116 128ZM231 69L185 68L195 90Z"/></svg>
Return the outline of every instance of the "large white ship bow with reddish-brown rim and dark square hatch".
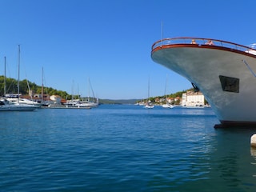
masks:
<svg viewBox="0 0 256 192"><path fill-rule="evenodd" d="M220 126L256 126L252 46L210 38L165 38L153 44L151 58L202 91Z"/></svg>

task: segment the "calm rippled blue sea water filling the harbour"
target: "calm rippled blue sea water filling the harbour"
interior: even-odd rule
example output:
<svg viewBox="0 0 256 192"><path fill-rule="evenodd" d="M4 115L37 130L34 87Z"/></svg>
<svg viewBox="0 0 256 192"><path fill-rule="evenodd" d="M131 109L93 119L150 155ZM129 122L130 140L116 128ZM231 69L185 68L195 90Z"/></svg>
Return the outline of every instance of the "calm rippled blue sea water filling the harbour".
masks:
<svg viewBox="0 0 256 192"><path fill-rule="evenodd" d="M211 109L0 113L0 191L256 191L253 129Z"/></svg>

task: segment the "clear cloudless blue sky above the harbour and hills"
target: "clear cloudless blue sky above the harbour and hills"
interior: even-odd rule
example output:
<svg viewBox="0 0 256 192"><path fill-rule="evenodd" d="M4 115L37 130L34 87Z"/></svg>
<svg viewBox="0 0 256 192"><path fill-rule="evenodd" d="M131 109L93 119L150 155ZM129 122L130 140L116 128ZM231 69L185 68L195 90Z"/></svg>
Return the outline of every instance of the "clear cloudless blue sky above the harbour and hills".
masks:
<svg viewBox="0 0 256 192"><path fill-rule="evenodd" d="M185 78L154 63L161 38L256 42L250 0L0 0L0 74L67 93L98 98L147 98L189 89ZM1 64L2 63L2 64ZM2 66L2 67L1 67ZM72 91L73 90L73 91ZM91 92L90 92L91 93Z"/></svg>

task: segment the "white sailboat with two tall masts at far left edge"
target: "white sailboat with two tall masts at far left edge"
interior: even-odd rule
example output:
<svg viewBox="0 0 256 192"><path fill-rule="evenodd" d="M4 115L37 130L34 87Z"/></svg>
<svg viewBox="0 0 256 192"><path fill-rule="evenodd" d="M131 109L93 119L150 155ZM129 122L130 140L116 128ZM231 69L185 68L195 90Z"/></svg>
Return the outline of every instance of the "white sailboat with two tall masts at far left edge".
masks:
<svg viewBox="0 0 256 192"><path fill-rule="evenodd" d="M20 45L18 45L18 94L17 102L9 102L6 97L0 98L0 111L32 111L38 108L38 106L25 104L20 102L20 93L19 93L19 66L20 66ZM5 71L6 71L6 58L5 58ZM5 74L6 78L6 74ZM5 94L6 94L6 80L5 82Z"/></svg>

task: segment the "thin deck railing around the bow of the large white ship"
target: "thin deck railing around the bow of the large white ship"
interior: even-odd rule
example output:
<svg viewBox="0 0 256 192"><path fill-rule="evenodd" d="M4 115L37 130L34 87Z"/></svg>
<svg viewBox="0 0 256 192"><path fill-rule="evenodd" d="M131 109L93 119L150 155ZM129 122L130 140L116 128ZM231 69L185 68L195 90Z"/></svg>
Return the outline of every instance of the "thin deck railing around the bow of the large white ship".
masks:
<svg viewBox="0 0 256 192"><path fill-rule="evenodd" d="M256 43L250 44L248 46L242 46L233 42L226 42L214 38L163 38L158 42L154 42L152 46L152 51L156 48L160 48L162 46L170 46L170 45L182 45L182 44L194 44L198 46L208 45L208 46L221 46L225 48L229 48L232 50L240 50L245 51L246 53L256 54Z"/></svg>

